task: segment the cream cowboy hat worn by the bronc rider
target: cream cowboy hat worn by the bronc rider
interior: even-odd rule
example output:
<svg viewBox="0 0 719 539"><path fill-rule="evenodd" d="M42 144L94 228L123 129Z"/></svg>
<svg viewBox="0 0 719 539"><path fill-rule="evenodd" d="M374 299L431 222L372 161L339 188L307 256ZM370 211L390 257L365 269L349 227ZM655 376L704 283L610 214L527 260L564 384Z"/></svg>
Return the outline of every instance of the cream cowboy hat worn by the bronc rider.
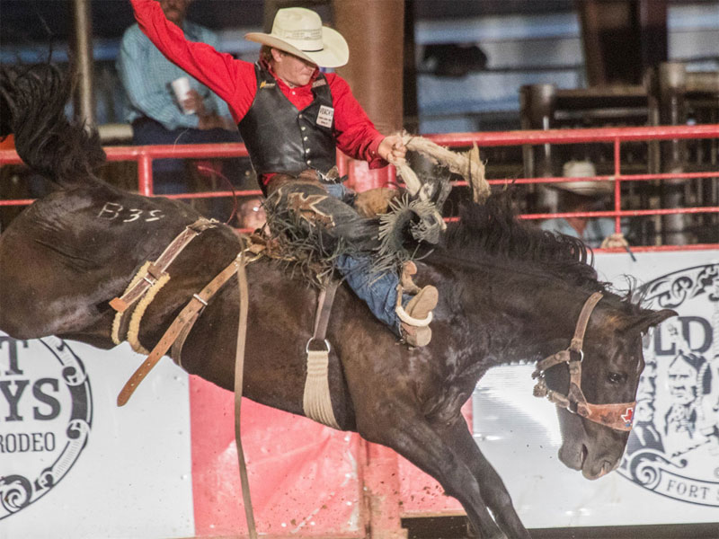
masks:
<svg viewBox="0 0 719 539"><path fill-rule="evenodd" d="M340 67L350 59L350 48L339 31L322 25L320 16L304 7L278 10L269 34L251 32L245 40L306 59L320 67Z"/></svg>

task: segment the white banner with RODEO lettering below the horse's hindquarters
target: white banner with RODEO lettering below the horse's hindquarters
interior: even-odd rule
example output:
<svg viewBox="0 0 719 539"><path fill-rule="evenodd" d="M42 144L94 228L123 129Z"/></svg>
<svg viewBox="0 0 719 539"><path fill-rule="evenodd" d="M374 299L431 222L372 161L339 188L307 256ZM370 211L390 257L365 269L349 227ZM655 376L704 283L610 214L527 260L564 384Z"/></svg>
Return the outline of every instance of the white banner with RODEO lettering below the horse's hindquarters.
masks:
<svg viewBox="0 0 719 539"><path fill-rule="evenodd" d="M0 538L194 535L188 377L164 358L0 333Z"/></svg>

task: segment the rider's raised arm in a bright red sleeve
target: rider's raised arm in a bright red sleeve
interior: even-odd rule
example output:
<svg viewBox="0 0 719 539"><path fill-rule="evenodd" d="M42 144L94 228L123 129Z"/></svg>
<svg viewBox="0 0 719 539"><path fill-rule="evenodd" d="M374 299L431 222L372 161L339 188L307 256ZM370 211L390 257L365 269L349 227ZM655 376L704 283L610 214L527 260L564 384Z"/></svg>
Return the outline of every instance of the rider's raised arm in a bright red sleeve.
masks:
<svg viewBox="0 0 719 539"><path fill-rule="evenodd" d="M164 57L205 84L229 105L235 121L252 105L256 91L253 64L235 60L206 43L185 39L182 29L168 21L159 2L130 0L140 29Z"/></svg>

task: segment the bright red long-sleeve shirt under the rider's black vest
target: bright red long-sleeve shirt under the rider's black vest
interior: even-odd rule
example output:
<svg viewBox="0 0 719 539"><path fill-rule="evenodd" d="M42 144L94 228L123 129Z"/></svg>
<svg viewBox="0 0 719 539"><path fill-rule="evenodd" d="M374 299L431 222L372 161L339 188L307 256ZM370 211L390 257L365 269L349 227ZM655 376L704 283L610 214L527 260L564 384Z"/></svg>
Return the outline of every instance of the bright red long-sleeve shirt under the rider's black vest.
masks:
<svg viewBox="0 0 719 539"><path fill-rule="evenodd" d="M205 43L186 40L182 29L164 17L162 7L155 0L130 1L140 28L155 43L155 47L225 100L235 122L243 119L257 93L253 64L218 52ZM340 75L328 73L325 77L332 93L337 147L346 155L368 161L369 168L385 166L386 161L377 155L377 147L384 136L368 119L367 113L352 95L350 85ZM290 88L277 76L275 79L297 110L304 109L313 101L312 81Z"/></svg>

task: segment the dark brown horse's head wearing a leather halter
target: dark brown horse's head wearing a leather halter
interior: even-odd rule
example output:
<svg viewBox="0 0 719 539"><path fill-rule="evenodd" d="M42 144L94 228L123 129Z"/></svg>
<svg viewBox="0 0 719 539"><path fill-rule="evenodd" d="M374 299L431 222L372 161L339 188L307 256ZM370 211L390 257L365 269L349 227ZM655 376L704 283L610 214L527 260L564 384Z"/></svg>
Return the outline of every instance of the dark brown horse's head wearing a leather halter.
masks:
<svg viewBox="0 0 719 539"><path fill-rule="evenodd" d="M676 315L668 309L634 310L627 314L599 303L579 349L552 357L541 376L541 385L558 404L559 459L587 479L598 479L620 464L644 369L642 334ZM576 339L577 333L573 346Z"/></svg>

